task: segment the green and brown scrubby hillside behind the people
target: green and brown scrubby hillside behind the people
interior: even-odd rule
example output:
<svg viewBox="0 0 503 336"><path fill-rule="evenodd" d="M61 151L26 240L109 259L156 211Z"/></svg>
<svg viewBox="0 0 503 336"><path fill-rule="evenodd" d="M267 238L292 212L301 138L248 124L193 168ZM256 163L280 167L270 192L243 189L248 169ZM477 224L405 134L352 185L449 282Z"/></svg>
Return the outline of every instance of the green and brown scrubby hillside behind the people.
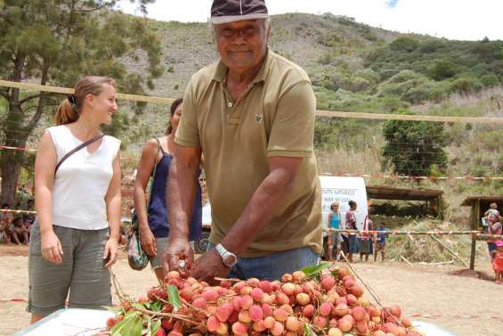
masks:
<svg viewBox="0 0 503 336"><path fill-rule="evenodd" d="M212 31L207 23L146 21L162 41L166 69L147 92L182 96L191 74L217 60ZM270 46L308 72L320 110L503 115L503 41L400 34L330 13L296 13L272 16ZM123 61L129 71L142 73L149 59L137 52ZM149 103L140 111L125 103L121 109L127 113L117 120L114 134L123 139L126 156L138 157L142 143L164 133L168 107ZM382 128L383 122L373 120L317 119L320 171L392 172L393 166L385 166L382 156ZM498 125L449 124L444 132L446 165L438 175L503 176ZM134 162L126 167L132 170ZM448 215L454 219L465 217L457 208L467 194L501 194L503 186L494 181L418 184L377 178L367 183L442 189Z"/></svg>

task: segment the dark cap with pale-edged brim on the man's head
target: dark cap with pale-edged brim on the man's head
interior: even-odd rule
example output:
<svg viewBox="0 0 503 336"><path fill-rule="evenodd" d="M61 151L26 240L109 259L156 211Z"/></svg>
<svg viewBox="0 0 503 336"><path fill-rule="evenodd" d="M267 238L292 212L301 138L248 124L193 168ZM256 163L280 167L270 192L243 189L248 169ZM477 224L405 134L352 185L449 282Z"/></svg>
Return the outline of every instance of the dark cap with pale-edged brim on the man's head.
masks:
<svg viewBox="0 0 503 336"><path fill-rule="evenodd" d="M210 22L213 24L268 17L264 0L214 0L211 5Z"/></svg>

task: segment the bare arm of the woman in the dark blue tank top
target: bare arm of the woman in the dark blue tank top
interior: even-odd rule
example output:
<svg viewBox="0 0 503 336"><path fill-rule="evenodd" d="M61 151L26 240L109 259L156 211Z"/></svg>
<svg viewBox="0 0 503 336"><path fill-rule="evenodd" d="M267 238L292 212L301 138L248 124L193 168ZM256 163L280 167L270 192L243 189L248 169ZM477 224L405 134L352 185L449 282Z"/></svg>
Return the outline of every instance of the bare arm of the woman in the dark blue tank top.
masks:
<svg viewBox="0 0 503 336"><path fill-rule="evenodd" d="M155 139L145 143L142 150L142 159L136 168L136 179L134 180L134 211L138 217L140 228L140 241L142 248L149 256L157 254L155 237L150 231L149 219L147 216L147 195L145 190L149 184L150 175L158 160L158 142Z"/></svg>

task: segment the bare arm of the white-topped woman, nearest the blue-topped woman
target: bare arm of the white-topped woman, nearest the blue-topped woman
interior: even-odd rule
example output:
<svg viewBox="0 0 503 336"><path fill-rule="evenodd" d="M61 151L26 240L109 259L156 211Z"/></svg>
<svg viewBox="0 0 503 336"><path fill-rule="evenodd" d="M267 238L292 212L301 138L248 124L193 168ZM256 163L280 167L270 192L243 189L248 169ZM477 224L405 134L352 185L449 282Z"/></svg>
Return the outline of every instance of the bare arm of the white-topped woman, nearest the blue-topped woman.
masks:
<svg viewBox="0 0 503 336"><path fill-rule="evenodd" d="M120 152L113 161L113 176L109 190L105 195L107 221L109 222L110 239L105 244L104 259L109 259L105 267L111 266L117 259L117 247L120 239Z"/></svg>

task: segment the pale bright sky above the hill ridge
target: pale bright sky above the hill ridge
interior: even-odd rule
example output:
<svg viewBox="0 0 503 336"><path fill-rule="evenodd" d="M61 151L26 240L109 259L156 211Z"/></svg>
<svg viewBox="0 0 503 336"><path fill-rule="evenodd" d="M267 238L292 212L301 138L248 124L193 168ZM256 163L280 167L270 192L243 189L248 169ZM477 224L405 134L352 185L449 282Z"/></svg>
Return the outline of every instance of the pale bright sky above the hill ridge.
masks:
<svg viewBox="0 0 503 336"><path fill-rule="evenodd" d="M310 12L352 17L358 22L402 33L458 40L503 40L503 0L265 0L269 13ZM211 0L157 0L147 7L156 20L206 22ZM129 0L123 12L142 15Z"/></svg>

